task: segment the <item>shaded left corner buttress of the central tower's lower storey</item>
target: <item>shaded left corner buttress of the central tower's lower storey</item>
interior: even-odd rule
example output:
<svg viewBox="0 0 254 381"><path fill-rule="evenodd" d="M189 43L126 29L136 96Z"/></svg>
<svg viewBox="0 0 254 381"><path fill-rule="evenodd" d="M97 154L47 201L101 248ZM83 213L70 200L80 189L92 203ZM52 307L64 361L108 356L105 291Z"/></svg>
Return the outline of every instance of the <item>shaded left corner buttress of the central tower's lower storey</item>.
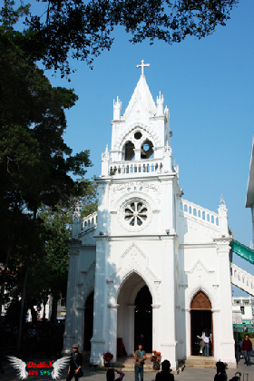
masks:
<svg viewBox="0 0 254 381"><path fill-rule="evenodd" d="M90 362L97 365L103 365L103 353L105 347L105 244L105 239L97 239L93 305L93 337L91 339L92 347L90 357Z"/></svg>

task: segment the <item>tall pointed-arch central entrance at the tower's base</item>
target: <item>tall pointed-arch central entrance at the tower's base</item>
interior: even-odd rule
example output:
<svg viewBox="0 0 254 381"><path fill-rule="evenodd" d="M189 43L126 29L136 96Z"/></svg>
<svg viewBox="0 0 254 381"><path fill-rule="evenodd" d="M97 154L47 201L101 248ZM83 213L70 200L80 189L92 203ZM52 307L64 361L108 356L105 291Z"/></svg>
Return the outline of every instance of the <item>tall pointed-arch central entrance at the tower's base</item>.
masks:
<svg viewBox="0 0 254 381"><path fill-rule="evenodd" d="M151 352L152 298L140 275L134 272L125 280L117 304L118 357L132 355L140 342L146 352Z"/></svg>

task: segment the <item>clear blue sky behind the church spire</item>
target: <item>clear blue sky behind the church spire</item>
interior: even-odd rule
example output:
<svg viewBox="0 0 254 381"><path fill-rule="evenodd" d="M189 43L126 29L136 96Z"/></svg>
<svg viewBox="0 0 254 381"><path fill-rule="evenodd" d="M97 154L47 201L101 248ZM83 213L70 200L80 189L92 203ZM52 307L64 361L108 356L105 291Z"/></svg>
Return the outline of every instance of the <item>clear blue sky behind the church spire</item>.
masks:
<svg viewBox="0 0 254 381"><path fill-rule="evenodd" d="M65 142L73 152L91 150L88 177L100 175L101 153L111 143L112 101L127 107L141 70L153 99L164 95L171 112L171 147L180 166L184 199L217 211L223 194L235 239L249 246L250 210L245 208L254 131L254 2L239 0L227 25L202 40L133 45L123 28L93 70L73 61L71 83L46 73L54 85L73 87L79 101L67 111ZM253 265L234 262L254 274ZM235 295L237 291L235 291Z"/></svg>

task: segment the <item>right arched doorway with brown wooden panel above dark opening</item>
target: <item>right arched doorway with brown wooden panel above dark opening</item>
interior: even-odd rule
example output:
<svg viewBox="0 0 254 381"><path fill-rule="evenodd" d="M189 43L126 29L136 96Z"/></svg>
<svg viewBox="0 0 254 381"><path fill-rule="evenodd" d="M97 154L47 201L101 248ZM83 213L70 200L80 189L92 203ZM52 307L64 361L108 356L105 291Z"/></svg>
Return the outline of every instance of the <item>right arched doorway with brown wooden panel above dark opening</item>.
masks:
<svg viewBox="0 0 254 381"><path fill-rule="evenodd" d="M197 336L201 336L203 330L210 330L213 343L210 298L203 291L199 291L190 303L190 354L192 356L200 356ZM210 355L213 355L213 344L210 346Z"/></svg>

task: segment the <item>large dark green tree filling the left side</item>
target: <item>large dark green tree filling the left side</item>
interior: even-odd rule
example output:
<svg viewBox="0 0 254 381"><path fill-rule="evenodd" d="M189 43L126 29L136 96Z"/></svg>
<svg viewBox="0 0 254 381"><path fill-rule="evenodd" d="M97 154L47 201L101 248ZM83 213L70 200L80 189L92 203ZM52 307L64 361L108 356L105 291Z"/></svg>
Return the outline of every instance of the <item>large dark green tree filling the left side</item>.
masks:
<svg viewBox="0 0 254 381"><path fill-rule="evenodd" d="M7 296L21 297L22 318L27 279L28 302L33 304L52 287L50 274L58 293L61 281L66 278L66 257L62 260L66 265L64 274L60 269L57 273L46 271L50 263L46 260L45 244L49 232L38 210L55 211L55 205L85 197L88 184L84 186L83 181L74 181L72 175L83 176L85 168L92 164L89 151L73 155L64 142L67 126L64 109L73 107L78 97L73 89L53 87L34 64L37 55L22 49L20 41L29 44L34 34L15 33L12 24L18 14L27 13L27 8L21 7L15 13L13 2L5 1L5 5L0 26L0 228L3 233L0 260L5 263L1 272L0 310L7 283L7 291L10 291ZM52 254L54 266L57 259L61 262L63 242L61 237L56 259ZM19 340L20 334L21 320Z"/></svg>

